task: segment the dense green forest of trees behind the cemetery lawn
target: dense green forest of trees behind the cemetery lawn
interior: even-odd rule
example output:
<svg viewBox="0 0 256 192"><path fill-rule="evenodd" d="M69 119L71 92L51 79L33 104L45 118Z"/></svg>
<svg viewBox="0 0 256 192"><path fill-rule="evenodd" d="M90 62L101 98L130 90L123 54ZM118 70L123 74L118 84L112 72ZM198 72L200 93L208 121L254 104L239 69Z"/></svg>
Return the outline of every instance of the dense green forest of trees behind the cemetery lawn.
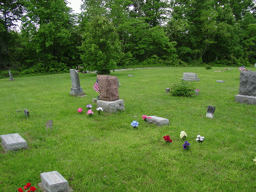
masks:
<svg viewBox="0 0 256 192"><path fill-rule="evenodd" d="M81 2L1 1L0 76L256 62L253 0Z"/></svg>

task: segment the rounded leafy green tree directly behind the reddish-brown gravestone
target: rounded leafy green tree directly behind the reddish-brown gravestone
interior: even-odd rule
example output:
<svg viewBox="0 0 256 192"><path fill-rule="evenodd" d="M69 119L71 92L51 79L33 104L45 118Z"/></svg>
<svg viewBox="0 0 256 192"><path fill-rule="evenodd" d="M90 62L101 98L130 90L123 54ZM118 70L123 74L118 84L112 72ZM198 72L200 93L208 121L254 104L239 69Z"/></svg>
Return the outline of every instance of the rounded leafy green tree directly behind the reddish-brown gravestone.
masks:
<svg viewBox="0 0 256 192"><path fill-rule="evenodd" d="M98 74L110 74L121 56L120 41L113 23L102 16L93 17L85 29L81 46L84 67Z"/></svg>

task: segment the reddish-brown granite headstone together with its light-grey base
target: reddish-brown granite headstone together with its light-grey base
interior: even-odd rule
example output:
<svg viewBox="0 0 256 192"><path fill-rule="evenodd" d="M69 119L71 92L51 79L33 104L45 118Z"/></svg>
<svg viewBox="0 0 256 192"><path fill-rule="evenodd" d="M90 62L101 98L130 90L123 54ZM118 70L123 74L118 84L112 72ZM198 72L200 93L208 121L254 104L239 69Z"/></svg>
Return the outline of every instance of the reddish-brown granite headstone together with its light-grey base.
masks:
<svg viewBox="0 0 256 192"><path fill-rule="evenodd" d="M105 112L117 113L124 110L123 100L119 99L118 79L110 75L97 75L99 84L98 108Z"/></svg>

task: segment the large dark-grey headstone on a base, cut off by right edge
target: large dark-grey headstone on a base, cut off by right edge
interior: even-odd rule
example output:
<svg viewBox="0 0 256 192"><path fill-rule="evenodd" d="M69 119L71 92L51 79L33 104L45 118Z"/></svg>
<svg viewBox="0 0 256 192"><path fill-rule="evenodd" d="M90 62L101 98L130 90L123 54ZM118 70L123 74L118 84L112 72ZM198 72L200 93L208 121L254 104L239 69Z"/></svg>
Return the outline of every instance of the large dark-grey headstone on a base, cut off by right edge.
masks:
<svg viewBox="0 0 256 192"><path fill-rule="evenodd" d="M239 93L234 98L240 103L255 104L256 103L256 72L241 71Z"/></svg>

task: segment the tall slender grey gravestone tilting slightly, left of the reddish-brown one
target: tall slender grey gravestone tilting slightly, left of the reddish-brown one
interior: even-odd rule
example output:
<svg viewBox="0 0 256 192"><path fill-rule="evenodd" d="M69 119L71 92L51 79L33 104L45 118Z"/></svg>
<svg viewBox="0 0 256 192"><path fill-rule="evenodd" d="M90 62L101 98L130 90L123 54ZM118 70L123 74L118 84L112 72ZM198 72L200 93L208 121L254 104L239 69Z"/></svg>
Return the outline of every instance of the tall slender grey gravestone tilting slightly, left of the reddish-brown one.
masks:
<svg viewBox="0 0 256 192"><path fill-rule="evenodd" d="M78 72L74 69L70 69L70 76L71 76L71 82L72 82L72 88L71 88L70 95L73 95L73 96L86 95L86 93L84 93L82 91L82 88L80 87L80 80L79 80Z"/></svg>

